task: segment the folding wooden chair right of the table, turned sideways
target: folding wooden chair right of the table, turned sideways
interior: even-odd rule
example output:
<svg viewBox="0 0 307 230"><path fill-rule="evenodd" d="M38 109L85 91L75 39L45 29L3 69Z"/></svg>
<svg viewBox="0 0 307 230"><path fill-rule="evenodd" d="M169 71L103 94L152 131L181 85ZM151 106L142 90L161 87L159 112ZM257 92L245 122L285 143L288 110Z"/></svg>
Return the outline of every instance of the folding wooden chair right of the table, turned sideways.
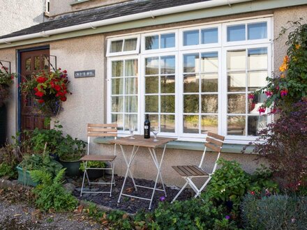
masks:
<svg viewBox="0 0 307 230"><path fill-rule="evenodd" d="M190 187L194 190L194 192L195 192L194 198L200 196L200 193L202 192L202 190L204 190L204 187L206 187L206 185L211 180L211 176L214 174L214 171L216 171L216 167L218 165L217 161L218 161L218 158L220 158L220 151L222 150L224 139L225 139L225 137L223 137L223 136L216 135L212 132L208 132L208 135L207 135L207 138L206 138L206 143L204 144L204 153L202 153L202 160L200 160L200 164L198 166L197 165L172 166L172 168L175 171L177 171L177 173L182 178L184 178L184 180L186 180L186 183L181 188L181 190L178 192L176 197L174 197L172 202L174 202L177 199L179 194L181 194L181 192L184 191L184 188L187 185L190 185ZM204 162L204 156L206 155L207 148L210 148L211 150L216 151L218 153L217 158L216 158L216 162L214 164L214 169L212 170L212 172L210 174L207 171L204 171L204 169L202 169L202 163ZM204 185L202 185L202 187L200 187L200 189L198 189L198 187L195 185L195 183L192 181L192 179L193 178L202 178L202 177L207 178L207 180L204 181Z"/></svg>

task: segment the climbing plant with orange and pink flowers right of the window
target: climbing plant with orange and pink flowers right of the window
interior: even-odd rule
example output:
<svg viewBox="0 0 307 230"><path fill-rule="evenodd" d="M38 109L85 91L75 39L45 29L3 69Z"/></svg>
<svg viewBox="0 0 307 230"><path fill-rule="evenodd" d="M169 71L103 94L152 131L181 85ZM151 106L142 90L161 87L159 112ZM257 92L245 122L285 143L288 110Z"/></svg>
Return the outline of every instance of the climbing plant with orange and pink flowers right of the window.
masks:
<svg viewBox="0 0 307 230"><path fill-rule="evenodd" d="M287 56L280 66L280 74L267 78L267 86L257 93L267 93L269 98L263 107L278 107L285 111L291 111L292 104L305 100L307 92L307 24L289 22L290 32L286 45ZM283 28L281 34L287 29Z"/></svg>

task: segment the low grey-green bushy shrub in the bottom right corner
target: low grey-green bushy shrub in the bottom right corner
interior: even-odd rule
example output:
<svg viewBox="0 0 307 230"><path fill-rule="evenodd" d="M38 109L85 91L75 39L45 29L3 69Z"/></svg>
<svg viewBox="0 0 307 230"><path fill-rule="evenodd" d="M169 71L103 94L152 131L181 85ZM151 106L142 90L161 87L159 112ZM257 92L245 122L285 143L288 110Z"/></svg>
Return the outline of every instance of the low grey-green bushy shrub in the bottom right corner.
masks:
<svg viewBox="0 0 307 230"><path fill-rule="evenodd" d="M246 194L241 212L246 229L307 229L307 197Z"/></svg>

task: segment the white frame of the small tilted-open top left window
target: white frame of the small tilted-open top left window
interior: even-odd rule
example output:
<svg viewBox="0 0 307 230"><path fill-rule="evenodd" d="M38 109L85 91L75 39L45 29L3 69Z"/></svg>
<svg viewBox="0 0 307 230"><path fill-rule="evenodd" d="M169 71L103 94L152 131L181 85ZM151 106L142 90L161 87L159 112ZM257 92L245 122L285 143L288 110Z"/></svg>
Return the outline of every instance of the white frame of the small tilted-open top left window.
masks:
<svg viewBox="0 0 307 230"><path fill-rule="evenodd" d="M131 39L131 38L137 38L137 45L135 47L135 50L130 51L123 51L123 46L125 45L125 40ZM121 52L110 52L111 44L114 41L117 40L123 40L123 45L121 47ZM121 36L121 37L114 37L107 39L107 57L109 56L121 56L121 55L130 55L130 54L139 54L140 53L140 34L137 35L130 35L130 36Z"/></svg>

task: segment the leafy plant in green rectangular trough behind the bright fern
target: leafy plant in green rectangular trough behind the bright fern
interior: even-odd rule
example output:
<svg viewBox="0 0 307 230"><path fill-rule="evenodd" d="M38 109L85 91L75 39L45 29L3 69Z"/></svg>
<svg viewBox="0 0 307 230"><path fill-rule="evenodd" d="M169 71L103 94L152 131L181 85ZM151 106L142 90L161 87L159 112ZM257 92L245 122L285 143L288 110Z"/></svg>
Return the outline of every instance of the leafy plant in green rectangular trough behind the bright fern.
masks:
<svg viewBox="0 0 307 230"><path fill-rule="evenodd" d="M30 171L43 170L55 176L62 168L63 166L47 153L43 153L43 155L24 155L22 162L16 167L18 172L17 181L24 185L36 186L37 183L32 181Z"/></svg>

